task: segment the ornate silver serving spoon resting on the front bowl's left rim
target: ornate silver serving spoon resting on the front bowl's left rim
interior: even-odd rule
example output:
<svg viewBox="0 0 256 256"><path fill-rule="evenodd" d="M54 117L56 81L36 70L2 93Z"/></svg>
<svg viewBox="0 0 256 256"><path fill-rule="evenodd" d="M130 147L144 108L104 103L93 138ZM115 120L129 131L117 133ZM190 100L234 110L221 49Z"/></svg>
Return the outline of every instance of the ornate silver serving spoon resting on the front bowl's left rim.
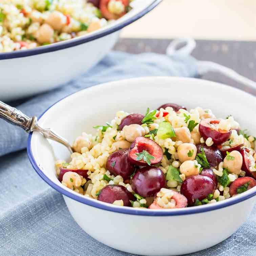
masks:
<svg viewBox="0 0 256 256"><path fill-rule="evenodd" d="M25 114L23 114L20 110L11 107L2 101L0 101L0 118L4 119L8 123L12 125L16 125L21 127L23 130L25 130L27 133L30 132L40 132L44 135L45 138L48 138L53 141L57 141L61 144L63 144L67 149L70 151L70 153L73 153L73 148L69 145L67 140L63 138L62 136L58 135L54 130L50 128L42 128L38 125L37 117L28 117Z"/></svg>

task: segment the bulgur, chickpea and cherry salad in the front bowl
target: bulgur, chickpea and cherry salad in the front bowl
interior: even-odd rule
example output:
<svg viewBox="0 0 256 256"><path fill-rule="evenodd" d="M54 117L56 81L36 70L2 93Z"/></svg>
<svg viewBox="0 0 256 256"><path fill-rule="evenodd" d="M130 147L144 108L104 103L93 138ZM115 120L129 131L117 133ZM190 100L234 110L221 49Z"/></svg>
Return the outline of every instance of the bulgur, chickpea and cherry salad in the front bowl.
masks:
<svg viewBox="0 0 256 256"><path fill-rule="evenodd" d="M232 115L165 104L146 114L118 111L95 135L82 133L60 182L118 206L173 209L211 204L256 186L256 140Z"/></svg>

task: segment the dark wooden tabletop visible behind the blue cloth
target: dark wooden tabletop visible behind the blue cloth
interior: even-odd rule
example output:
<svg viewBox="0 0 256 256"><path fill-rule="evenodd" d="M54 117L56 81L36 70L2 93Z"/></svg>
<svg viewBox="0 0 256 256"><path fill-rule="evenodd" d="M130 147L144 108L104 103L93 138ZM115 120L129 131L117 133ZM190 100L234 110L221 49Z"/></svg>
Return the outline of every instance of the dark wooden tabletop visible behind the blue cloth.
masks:
<svg viewBox="0 0 256 256"><path fill-rule="evenodd" d="M115 50L140 54L142 52L157 52L165 54L170 39L120 39ZM242 76L256 81L256 42L243 41L208 41L197 40L192 55L198 60L213 61L232 68ZM209 72L203 79L220 82L240 88L256 96L256 89L245 85L219 73Z"/></svg>

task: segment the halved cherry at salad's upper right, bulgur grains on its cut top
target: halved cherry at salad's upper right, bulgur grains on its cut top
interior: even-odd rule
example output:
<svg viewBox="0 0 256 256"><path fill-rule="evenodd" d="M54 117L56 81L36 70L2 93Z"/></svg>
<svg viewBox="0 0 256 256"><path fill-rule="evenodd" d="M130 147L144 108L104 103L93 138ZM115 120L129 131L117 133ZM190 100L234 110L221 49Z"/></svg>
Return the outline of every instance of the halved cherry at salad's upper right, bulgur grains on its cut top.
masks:
<svg viewBox="0 0 256 256"><path fill-rule="evenodd" d="M217 119L207 118L200 121L199 124L199 133L207 140L207 138L212 138L214 145L219 145L225 141L227 141L231 135L231 130L225 131L217 129L216 125L220 121Z"/></svg>

